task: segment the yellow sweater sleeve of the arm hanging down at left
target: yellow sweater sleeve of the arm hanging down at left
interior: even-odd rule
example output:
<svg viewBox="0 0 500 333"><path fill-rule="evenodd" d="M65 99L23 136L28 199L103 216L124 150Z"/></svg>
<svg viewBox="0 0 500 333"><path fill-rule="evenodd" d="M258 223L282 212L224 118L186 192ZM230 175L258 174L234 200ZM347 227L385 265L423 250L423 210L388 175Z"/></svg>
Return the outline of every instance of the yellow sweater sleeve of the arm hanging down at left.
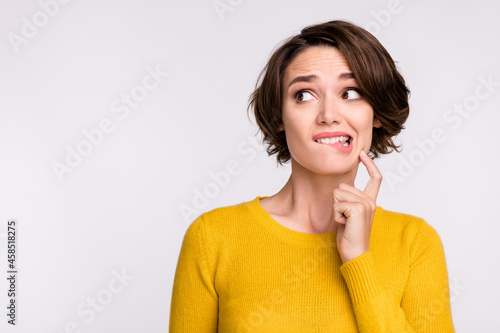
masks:
<svg viewBox="0 0 500 333"><path fill-rule="evenodd" d="M182 242L170 304L170 333L217 332L219 299L210 257L200 216Z"/></svg>

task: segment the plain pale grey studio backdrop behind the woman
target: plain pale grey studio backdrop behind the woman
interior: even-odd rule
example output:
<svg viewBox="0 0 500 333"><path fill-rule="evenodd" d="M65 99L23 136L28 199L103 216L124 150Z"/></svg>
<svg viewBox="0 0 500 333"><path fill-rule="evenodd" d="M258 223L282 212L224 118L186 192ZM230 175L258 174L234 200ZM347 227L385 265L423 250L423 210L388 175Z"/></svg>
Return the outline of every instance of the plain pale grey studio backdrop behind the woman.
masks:
<svg viewBox="0 0 500 333"><path fill-rule="evenodd" d="M457 332L498 332L499 12L451 0L0 1L0 331L167 332L189 224L289 177L247 118L260 70L301 28L346 19L377 36L412 93L402 152L375 160L377 203L438 231ZM361 164L356 186L367 180Z"/></svg>

